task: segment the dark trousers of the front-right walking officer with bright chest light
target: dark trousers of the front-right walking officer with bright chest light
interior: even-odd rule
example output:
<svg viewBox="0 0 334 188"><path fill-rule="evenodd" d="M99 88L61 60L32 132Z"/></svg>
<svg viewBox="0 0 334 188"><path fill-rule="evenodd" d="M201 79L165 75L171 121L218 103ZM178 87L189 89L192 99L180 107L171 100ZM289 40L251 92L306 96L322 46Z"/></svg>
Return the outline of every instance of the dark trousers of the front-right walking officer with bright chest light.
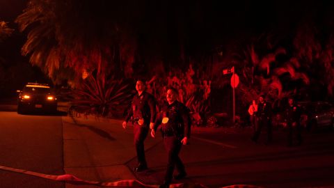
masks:
<svg viewBox="0 0 334 188"><path fill-rule="evenodd" d="M169 184L173 178L174 166L179 173L185 173L184 165L179 157L182 143L176 136L164 136L164 146L168 153L165 182Z"/></svg>

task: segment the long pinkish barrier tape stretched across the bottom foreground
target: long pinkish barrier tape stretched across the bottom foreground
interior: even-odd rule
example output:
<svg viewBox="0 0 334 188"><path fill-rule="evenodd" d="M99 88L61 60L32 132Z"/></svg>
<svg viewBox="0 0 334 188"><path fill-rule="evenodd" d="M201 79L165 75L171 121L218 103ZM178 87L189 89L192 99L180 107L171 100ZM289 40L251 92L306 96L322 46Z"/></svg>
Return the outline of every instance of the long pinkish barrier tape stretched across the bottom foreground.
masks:
<svg viewBox="0 0 334 188"><path fill-rule="evenodd" d="M12 171L15 173L22 173L26 175L33 175L40 178L45 178L49 180L56 180L56 181L62 181L62 182L68 182L72 184L79 184L79 185L97 185L97 186L104 186L104 187L159 187L159 185L145 185L142 182L138 180L120 180L117 182L97 182L97 181L86 181L81 180L80 178L75 177L71 174L64 174L64 175L49 175L45 173L37 173L33 171L26 171L23 169L14 169L7 166L0 166L0 170L4 171ZM207 188L204 185L200 184L173 184L170 185L170 188ZM253 187L252 187L253 188Z"/></svg>

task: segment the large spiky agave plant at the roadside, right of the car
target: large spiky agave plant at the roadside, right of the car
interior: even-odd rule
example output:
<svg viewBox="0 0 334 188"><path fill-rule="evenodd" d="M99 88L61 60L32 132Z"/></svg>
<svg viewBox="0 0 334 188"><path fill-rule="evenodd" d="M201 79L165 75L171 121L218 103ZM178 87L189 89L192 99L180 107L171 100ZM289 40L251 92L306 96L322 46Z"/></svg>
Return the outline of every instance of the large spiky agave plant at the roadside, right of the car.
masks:
<svg viewBox="0 0 334 188"><path fill-rule="evenodd" d="M94 77L90 75L81 84L80 88L73 90L74 109L81 113L94 113L97 116L107 116L110 111L116 111L131 97L129 85L113 77L106 79L103 75Z"/></svg>

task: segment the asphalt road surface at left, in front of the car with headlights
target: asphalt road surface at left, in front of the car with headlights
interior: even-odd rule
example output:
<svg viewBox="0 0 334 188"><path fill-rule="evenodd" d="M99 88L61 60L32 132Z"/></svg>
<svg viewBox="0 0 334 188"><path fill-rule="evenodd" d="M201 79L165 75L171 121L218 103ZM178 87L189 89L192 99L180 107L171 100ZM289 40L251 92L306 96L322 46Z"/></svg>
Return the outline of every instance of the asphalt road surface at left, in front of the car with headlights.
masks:
<svg viewBox="0 0 334 188"><path fill-rule="evenodd" d="M63 125L61 116L19 115L0 111L0 165L61 175ZM65 187L63 182L0 170L0 187Z"/></svg>

